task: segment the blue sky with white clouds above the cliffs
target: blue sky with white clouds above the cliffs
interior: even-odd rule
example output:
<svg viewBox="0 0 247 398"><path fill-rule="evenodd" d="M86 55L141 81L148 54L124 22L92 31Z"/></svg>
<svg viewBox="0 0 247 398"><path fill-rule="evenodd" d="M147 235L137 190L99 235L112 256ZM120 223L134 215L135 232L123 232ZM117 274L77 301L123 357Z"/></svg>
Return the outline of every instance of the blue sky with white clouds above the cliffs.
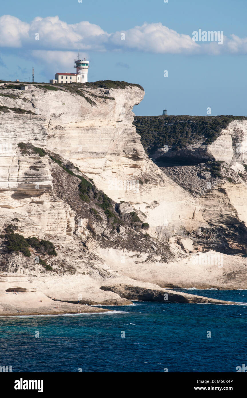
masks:
<svg viewBox="0 0 247 398"><path fill-rule="evenodd" d="M136 115L247 116L246 15L246 0L4 2L0 79L28 81L32 67L35 82L74 73L80 50L88 81L144 88Z"/></svg>

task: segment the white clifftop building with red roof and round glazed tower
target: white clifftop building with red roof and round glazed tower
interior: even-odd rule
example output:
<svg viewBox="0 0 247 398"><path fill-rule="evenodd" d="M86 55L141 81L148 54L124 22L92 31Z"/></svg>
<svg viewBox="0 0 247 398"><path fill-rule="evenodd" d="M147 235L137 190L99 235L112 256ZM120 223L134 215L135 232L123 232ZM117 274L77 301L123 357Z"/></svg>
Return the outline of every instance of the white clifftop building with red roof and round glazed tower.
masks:
<svg viewBox="0 0 247 398"><path fill-rule="evenodd" d="M76 68L76 73L58 72L55 74L55 78L50 80L50 83L86 83L88 81L89 61L86 58L81 60L78 54L78 59L74 60L74 68Z"/></svg>

